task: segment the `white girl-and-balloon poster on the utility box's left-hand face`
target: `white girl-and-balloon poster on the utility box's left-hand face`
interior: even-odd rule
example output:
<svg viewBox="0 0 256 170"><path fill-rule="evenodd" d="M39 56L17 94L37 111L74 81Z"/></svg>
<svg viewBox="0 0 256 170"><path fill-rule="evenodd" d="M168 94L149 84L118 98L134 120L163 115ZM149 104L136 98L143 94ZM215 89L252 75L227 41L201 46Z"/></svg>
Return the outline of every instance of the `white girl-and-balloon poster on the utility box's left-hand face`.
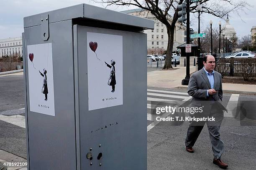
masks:
<svg viewBox="0 0 256 170"><path fill-rule="evenodd" d="M52 44L27 48L30 111L55 116Z"/></svg>

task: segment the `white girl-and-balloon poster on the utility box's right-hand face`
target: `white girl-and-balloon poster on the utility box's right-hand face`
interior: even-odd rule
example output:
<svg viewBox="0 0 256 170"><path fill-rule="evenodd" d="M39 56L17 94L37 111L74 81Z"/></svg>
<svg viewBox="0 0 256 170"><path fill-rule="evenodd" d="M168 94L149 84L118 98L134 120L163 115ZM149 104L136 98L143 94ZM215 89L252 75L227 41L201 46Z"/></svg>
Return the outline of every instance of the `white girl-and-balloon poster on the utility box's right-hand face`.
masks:
<svg viewBox="0 0 256 170"><path fill-rule="evenodd" d="M123 105L123 36L87 32L89 110Z"/></svg>

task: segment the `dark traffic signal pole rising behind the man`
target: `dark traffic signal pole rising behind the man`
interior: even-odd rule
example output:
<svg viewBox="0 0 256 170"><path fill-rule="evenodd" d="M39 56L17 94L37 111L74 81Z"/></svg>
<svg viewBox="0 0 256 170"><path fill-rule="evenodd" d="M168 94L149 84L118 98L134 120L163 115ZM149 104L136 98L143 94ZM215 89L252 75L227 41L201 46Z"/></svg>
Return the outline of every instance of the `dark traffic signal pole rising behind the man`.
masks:
<svg viewBox="0 0 256 170"><path fill-rule="evenodd" d="M189 22L190 22L190 18L189 18L189 5L190 5L190 0L187 0L187 44L190 44L190 29L189 29ZM190 79L190 75L189 75L189 57L190 57L190 53L187 52L186 53L186 77L182 80L182 85L188 85L189 84L189 79Z"/></svg>

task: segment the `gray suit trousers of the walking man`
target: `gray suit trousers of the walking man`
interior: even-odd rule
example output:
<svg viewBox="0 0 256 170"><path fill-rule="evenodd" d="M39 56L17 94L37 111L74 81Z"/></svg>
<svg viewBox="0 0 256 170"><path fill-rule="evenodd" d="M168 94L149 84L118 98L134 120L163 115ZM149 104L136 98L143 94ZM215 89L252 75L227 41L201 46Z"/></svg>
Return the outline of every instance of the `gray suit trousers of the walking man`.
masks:
<svg viewBox="0 0 256 170"><path fill-rule="evenodd" d="M210 113L210 116L215 117L215 121L207 121L207 128L210 135L210 141L212 144L212 151L215 159L220 159L221 155L224 151L224 143L220 139L220 125L223 120L223 111ZM200 135L205 122L195 122L192 121L189 124L189 128L187 130L187 138L185 145L187 147L193 147L195 142Z"/></svg>

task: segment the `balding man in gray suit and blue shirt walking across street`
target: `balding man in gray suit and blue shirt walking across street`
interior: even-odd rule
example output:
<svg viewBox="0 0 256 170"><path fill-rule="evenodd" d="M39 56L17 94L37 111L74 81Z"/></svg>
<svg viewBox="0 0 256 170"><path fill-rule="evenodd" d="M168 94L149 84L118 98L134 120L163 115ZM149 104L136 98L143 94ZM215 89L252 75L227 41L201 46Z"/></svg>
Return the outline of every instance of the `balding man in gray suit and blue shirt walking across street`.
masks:
<svg viewBox="0 0 256 170"><path fill-rule="evenodd" d="M214 117L215 121L206 121L210 135L210 141L213 151L213 163L220 168L227 168L228 165L220 160L224 151L224 143L220 139L220 125L223 120L223 110L226 108L222 102L222 81L221 74L214 71L215 58L212 55L206 55L203 58L204 67L193 73L189 80L188 94L192 96L192 107L203 107L203 112L194 114L194 117ZM186 150L189 153L194 153L193 146L200 135L205 121L189 124L186 138Z"/></svg>

